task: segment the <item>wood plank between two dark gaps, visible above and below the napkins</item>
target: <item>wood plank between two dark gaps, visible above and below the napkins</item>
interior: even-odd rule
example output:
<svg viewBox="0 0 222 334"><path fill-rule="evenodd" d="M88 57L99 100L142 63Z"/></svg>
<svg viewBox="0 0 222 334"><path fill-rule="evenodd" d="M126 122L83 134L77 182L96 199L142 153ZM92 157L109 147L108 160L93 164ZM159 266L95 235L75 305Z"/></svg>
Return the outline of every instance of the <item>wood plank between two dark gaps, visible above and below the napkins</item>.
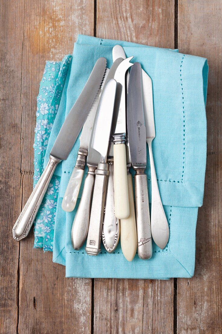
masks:
<svg viewBox="0 0 222 334"><path fill-rule="evenodd" d="M97 37L174 48L174 1L97 0ZM94 333L173 333L173 280L95 279Z"/></svg>

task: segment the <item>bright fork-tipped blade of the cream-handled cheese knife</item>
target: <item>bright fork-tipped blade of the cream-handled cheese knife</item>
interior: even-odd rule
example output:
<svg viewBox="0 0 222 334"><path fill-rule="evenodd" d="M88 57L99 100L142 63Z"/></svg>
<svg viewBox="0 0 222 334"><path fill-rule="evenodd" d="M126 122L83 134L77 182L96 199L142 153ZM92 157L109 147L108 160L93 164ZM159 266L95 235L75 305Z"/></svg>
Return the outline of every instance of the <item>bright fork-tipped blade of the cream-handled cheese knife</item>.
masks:
<svg viewBox="0 0 222 334"><path fill-rule="evenodd" d="M129 57L124 59L118 66L114 79L117 82L116 88L116 102L113 114L113 130L112 134L126 133L126 98L125 98L125 73L127 69L132 66Z"/></svg>

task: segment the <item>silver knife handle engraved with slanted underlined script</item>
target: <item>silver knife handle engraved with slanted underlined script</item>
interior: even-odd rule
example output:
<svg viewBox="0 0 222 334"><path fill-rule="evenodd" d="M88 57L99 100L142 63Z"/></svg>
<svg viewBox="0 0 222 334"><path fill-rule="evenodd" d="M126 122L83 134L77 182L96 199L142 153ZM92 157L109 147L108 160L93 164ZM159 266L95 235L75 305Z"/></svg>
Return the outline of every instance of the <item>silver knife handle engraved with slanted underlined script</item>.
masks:
<svg viewBox="0 0 222 334"><path fill-rule="evenodd" d="M150 259L152 256L147 178L143 168L138 168L135 172L137 248L138 256L140 259L145 260Z"/></svg>

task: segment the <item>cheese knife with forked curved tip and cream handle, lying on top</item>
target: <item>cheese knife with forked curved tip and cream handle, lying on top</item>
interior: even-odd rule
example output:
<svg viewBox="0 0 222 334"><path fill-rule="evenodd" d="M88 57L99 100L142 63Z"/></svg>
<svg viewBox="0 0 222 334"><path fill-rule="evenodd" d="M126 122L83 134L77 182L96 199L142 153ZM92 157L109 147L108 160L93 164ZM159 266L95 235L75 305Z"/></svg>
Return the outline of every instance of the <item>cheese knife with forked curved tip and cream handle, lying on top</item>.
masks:
<svg viewBox="0 0 222 334"><path fill-rule="evenodd" d="M114 204L115 216L119 219L129 216L129 196L126 169L126 95L125 73L132 66L126 58L118 66L114 79L117 82L116 102L113 115L113 177L114 177Z"/></svg>

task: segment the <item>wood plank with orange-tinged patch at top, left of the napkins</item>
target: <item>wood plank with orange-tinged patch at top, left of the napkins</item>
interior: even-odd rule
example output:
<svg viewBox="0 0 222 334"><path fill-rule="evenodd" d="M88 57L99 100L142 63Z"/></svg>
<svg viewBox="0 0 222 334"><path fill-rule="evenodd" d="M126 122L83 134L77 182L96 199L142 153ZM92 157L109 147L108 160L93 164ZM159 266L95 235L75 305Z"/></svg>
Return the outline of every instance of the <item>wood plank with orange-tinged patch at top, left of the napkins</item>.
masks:
<svg viewBox="0 0 222 334"><path fill-rule="evenodd" d="M24 39L19 87L23 113L19 130L24 138L21 143L21 206L24 206L33 188L36 97L45 61L61 60L65 54L72 53L78 33L93 34L94 1L37 0L27 1L22 8L25 19L21 23ZM16 150L14 154L18 155ZM19 333L91 331L91 280L65 279L65 268L52 263L52 254L33 249L32 232L20 242L19 275Z"/></svg>

